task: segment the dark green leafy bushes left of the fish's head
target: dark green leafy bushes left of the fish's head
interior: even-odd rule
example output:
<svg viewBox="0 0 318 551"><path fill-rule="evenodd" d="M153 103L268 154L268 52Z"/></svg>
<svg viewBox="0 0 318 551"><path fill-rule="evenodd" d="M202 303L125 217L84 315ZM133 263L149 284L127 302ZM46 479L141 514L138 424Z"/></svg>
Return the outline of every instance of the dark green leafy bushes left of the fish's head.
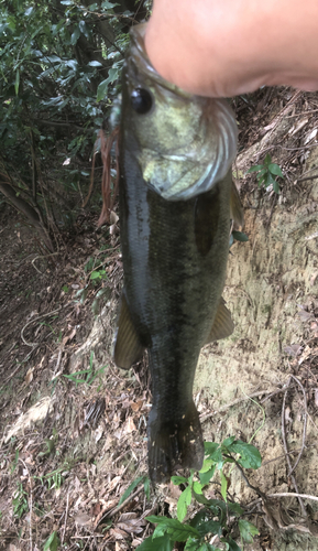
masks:
<svg viewBox="0 0 318 551"><path fill-rule="evenodd" d="M96 134L118 94L129 3L1 4L0 196L52 250L87 195Z"/></svg>

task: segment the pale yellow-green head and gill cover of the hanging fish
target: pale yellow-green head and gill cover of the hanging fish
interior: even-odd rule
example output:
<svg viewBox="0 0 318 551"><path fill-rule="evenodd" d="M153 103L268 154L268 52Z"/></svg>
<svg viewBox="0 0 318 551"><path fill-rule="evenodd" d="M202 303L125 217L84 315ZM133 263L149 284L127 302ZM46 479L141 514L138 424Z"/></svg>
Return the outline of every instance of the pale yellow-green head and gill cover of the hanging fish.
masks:
<svg viewBox="0 0 318 551"><path fill-rule="evenodd" d="M145 52L145 25L131 30L124 68L130 108L138 107L132 131L140 130L139 164L144 181L162 197L186 201L226 176L237 154L237 121L226 99L190 95L160 76ZM153 93L150 116L144 88Z"/></svg>

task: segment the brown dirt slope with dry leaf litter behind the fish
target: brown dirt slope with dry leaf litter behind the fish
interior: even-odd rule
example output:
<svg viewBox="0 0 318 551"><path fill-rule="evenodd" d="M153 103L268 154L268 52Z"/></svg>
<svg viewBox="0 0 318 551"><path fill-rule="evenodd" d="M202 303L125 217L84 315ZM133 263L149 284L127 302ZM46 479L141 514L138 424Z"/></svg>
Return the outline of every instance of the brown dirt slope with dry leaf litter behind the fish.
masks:
<svg viewBox="0 0 318 551"><path fill-rule="evenodd" d="M253 488L230 474L231 495L260 530L244 549L315 550L318 95L264 88L233 106L249 241L230 249L223 295L234 333L202 349L195 400L207 441L252 439L261 452L262 467L245 473ZM267 153L285 176L279 195L246 175ZM144 487L146 358L129 371L111 359L117 228L97 230L83 213L47 256L14 210L0 208L0 548L42 550L51 537L51 549L134 549L151 533L146 516L175 517L180 490Z"/></svg>

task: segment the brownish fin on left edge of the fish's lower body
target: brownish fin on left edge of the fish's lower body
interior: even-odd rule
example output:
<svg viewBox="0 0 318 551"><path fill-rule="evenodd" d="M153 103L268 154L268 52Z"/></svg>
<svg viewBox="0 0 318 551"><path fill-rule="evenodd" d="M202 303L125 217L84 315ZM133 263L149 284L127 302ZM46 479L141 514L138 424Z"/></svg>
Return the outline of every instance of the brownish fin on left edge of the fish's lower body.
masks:
<svg viewBox="0 0 318 551"><path fill-rule="evenodd" d="M121 298L121 306L118 318L118 329L116 335L113 360L118 367L129 369L138 361L144 352L136 331L131 320L129 307L124 294Z"/></svg>

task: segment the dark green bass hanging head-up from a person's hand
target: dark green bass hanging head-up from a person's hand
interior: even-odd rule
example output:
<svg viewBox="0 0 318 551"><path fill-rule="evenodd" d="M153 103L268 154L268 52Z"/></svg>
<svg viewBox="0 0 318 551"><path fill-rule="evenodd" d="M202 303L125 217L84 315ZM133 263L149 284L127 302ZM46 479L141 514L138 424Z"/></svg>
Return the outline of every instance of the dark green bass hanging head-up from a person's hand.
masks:
<svg viewBox="0 0 318 551"><path fill-rule="evenodd" d="M113 358L129 369L145 349L153 484L201 468L193 387L200 349L233 322L222 299L230 219L242 223L231 162L237 123L226 100L193 96L162 78L131 31L122 75L119 217L124 282Z"/></svg>

